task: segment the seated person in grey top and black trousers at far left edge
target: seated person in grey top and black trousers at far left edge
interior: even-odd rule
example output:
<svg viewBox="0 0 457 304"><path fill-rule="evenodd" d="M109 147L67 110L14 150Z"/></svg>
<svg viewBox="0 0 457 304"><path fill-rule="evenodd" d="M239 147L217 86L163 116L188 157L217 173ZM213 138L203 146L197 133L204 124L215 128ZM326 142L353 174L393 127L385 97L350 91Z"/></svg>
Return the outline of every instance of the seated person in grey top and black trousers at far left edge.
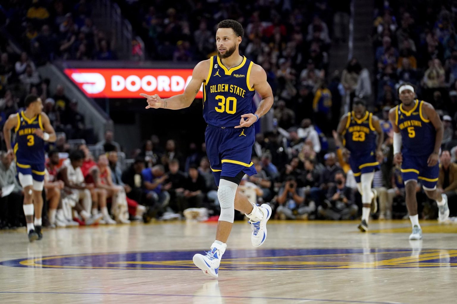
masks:
<svg viewBox="0 0 457 304"><path fill-rule="evenodd" d="M14 156L0 151L0 188L14 185L13 191L0 198L0 229L21 226L22 188L16 179Z"/></svg>

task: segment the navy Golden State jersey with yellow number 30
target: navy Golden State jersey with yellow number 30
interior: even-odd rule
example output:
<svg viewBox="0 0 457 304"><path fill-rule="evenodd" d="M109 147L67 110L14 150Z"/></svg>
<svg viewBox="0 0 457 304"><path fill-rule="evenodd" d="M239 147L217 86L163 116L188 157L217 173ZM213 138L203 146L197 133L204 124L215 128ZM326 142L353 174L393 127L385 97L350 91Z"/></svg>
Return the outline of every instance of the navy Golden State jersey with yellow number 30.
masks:
<svg viewBox="0 0 457 304"><path fill-rule="evenodd" d="M255 91L249 85L254 63L243 56L237 67L224 67L218 56L210 58L208 77L203 83L203 118L216 127L233 128L241 115L254 113Z"/></svg>

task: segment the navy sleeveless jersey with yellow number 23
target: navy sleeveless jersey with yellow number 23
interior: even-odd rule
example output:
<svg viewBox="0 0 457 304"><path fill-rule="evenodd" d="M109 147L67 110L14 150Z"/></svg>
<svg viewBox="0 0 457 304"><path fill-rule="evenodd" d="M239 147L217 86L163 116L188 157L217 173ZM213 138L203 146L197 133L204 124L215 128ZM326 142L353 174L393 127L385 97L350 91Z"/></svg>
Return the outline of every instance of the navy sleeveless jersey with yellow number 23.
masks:
<svg viewBox="0 0 457 304"><path fill-rule="evenodd" d="M365 112L357 119L354 111L347 114L344 145L351 154L370 154L376 150L376 129L373 127L373 113Z"/></svg>

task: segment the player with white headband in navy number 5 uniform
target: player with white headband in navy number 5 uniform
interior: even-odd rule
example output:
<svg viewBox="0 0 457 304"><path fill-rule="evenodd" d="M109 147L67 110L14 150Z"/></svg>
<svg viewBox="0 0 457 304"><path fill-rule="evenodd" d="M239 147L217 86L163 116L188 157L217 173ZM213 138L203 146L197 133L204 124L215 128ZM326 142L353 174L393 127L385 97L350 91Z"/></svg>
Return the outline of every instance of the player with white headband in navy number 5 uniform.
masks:
<svg viewBox="0 0 457 304"><path fill-rule="evenodd" d="M436 190L439 165L438 154L443 139L443 124L430 103L415 99L414 87L405 83L399 87L401 104L389 111L393 125L394 160L401 163L405 185L406 206L413 226L410 240L420 240L416 201L416 185L420 180L425 194L438 204L438 220L449 217L446 194Z"/></svg>

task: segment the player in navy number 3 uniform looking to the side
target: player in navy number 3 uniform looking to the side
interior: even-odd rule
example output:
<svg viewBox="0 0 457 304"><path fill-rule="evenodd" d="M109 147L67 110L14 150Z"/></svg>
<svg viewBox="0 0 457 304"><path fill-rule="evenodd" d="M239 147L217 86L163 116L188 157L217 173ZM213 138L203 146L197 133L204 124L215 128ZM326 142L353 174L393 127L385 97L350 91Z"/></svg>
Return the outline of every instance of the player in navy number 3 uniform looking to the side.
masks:
<svg viewBox="0 0 457 304"><path fill-rule="evenodd" d="M27 95L25 111L11 114L3 127L5 144L8 153L16 156L16 169L24 190L24 214L27 222L27 233L30 242L41 240L41 212L44 185L44 142L54 142L56 134L49 122L48 115L43 113L43 103L37 95ZM14 150L11 148L11 129L16 133ZM35 221L33 217L35 215Z"/></svg>

